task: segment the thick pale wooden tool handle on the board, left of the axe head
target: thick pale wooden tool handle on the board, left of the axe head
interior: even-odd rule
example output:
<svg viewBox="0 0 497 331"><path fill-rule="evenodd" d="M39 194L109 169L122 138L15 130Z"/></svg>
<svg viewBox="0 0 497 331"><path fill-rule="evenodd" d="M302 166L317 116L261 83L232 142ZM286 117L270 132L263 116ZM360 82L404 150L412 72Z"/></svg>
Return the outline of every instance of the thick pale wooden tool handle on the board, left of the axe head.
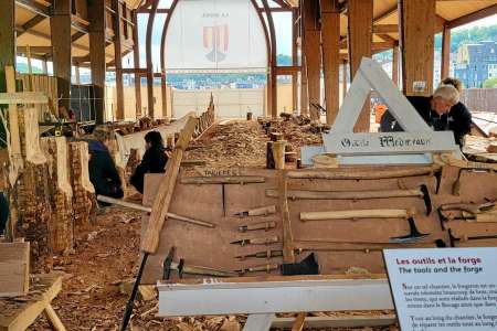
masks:
<svg viewBox="0 0 497 331"><path fill-rule="evenodd" d="M408 210L353 210L300 213L300 221L329 221L355 218L408 218L412 214Z"/></svg>

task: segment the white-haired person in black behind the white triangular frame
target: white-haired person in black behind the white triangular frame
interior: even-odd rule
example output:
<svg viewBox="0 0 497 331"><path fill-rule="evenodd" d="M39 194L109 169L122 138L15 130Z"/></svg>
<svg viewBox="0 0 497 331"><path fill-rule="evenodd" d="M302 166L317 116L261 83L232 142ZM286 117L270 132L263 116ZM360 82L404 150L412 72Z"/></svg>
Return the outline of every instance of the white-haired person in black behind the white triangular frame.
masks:
<svg viewBox="0 0 497 331"><path fill-rule="evenodd" d="M454 132L455 142L463 145L463 138L472 125L472 116L466 107L459 107L457 111L451 110L461 104L459 93L454 86L441 85L430 97L408 96L406 98L433 130L451 130ZM380 130L382 132L403 131L389 111L381 117Z"/></svg>

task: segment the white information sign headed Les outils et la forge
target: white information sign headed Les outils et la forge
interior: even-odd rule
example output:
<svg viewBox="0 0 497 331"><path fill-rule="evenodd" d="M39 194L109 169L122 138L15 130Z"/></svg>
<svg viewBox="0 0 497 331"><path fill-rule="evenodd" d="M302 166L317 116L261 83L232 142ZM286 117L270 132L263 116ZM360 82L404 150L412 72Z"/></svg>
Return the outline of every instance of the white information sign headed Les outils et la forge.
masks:
<svg viewBox="0 0 497 331"><path fill-rule="evenodd" d="M383 250L402 331L497 330L497 247Z"/></svg>

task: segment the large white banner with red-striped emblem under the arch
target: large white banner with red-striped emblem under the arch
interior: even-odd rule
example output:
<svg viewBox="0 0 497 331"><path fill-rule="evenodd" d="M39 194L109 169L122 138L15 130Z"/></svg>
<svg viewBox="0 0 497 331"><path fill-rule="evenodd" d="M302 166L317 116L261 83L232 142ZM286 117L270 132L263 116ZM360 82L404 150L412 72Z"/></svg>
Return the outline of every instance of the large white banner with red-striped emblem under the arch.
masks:
<svg viewBox="0 0 497 331"><path fill-rule="evenodd" d="M166 35L168 71L266 71L264 29L250 0L180 0Z"/></svg>

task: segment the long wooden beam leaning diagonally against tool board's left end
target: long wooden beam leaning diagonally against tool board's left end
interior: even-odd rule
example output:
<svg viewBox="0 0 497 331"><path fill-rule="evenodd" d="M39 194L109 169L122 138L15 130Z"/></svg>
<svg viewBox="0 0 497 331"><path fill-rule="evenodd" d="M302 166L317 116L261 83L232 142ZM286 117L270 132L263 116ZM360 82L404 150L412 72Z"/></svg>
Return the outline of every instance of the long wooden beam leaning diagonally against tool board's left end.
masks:
<svg viewBox="0 0 497 331"><path fill-rule="evenodd" d="M159 186L156 199L154 201L152 211L150 213L149 226L141 241L141 250L146 253L156 253L159 245L159 235L169 212L172 193L178 178L181 160L187 149L193 131L197 126L197 118L190 117L187 125L181 130L180 137L175 146L172 157L166 166L166 179Z"/></svg>

